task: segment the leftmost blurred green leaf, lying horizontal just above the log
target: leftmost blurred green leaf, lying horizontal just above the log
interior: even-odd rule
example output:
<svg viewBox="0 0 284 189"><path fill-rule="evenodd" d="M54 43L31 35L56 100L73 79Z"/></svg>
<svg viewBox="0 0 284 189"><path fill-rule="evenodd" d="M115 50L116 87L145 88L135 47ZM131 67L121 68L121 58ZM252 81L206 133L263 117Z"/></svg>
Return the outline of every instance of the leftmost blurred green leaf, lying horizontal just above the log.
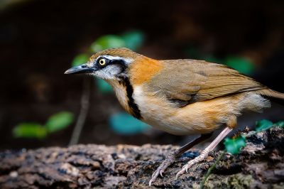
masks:
<svg viewBox="0 0 284 189"><path fill-rule="evenodd" d="M29 139L44 139L48 134L46 128L40 124L22 123L13 128L13 136Z"/></svg>

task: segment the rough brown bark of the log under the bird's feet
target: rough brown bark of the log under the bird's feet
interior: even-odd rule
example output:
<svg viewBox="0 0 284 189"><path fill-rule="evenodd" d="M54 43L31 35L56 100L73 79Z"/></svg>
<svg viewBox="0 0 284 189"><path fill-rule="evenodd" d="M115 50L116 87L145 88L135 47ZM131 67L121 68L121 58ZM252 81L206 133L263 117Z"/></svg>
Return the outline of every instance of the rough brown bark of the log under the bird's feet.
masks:
<svg viewBox="0 0 284 189"><path fill-rule="evenodd" d="M205 188L284 188L284 131L278 127L249 138L237 156L226 154ZM76 145L0 153L0 188L148 188L151 174L178 146ZM183 160L200 151L189 151ZM175 180L186 161L170 166L153 188L199 188L221 152Z"/></svg>

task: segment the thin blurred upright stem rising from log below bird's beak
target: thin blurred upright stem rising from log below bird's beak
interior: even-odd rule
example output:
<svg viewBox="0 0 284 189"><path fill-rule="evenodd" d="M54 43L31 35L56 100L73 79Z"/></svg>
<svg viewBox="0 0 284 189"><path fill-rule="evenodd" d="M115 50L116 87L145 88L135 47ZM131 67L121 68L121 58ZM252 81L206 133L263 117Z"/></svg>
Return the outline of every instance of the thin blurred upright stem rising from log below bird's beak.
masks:
<svg viewBox="0 0 284 189"><path fill-rule="evenodd" d="M90 78L84 78L84 85L81 97L81 109L78 116L77 122L72 132L72 136L69 142L69 146L77 144L80 139L80 134L84 126L84 121L86 120L87 113L89 110L89 95L91 92L91 80Z"/></svg>

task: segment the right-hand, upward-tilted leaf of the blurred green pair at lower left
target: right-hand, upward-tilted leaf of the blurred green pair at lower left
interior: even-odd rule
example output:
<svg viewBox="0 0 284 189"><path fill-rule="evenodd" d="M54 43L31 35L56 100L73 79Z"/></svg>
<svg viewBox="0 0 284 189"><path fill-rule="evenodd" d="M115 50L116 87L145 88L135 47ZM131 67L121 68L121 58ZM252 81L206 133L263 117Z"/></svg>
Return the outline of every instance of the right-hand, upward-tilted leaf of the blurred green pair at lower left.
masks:
<svg viewBox="0 0 284 189"><path fill-rule="evenodd" d="M55 132L65 129L67 126L72 124L74 120L74 115L70 112L59 112L58 114L53 114L45 126L48 132Z"/></svg>

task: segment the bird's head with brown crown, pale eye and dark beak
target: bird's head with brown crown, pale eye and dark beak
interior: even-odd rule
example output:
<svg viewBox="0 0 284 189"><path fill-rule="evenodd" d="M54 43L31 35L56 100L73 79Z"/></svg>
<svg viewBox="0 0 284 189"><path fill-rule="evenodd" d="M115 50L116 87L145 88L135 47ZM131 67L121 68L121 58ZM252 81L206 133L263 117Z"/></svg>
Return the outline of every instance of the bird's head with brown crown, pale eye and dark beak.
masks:
<svg viewBox="0 0 284 189"><path fill-rule="evenodd" d="M65 74L86 73L104 80L121 80L128 77L129 65L139 56L141 55L128 48L102 50L92 55L87 63L70 68Z"/></svg>

